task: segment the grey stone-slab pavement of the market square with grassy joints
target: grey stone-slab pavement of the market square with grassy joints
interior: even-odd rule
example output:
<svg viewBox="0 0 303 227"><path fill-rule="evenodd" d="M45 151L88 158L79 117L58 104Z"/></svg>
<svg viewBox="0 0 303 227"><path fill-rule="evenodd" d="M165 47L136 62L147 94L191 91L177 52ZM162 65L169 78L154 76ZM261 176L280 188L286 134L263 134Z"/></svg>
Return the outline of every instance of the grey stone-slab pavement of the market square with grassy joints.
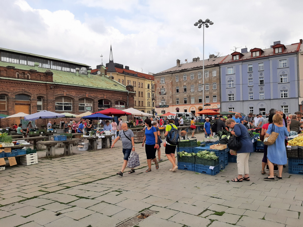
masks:
<svg viewBox="0 0 303 227"><path fill-rule="evenodd" d="M120 141L114 149L75 150L72 156L7 167L0 171L0 226L303 226L303 176L288 174L286 165L283 180L263 181L263 153L251 154L251 181L234 183L236 163L209 176L170 172L170 162L162 157L158 170L153 165L145 173L141 144L136 144L136 151L141 168L123 177L115 175L123 162ZM145 212L154 214L124 223Z"/></svg>

